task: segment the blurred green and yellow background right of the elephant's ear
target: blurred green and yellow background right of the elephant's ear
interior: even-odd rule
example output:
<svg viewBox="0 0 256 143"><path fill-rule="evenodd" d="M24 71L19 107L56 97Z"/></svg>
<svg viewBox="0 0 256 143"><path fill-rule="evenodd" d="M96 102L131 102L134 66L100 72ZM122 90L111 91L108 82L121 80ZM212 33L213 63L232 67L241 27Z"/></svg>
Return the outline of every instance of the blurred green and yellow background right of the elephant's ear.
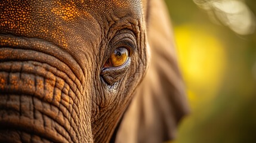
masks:
<svg viewBox="0 0 256 143"><path fill-rule="evenodd" d="M251 32L247 29L248 35L233 32L234 28L224 26L216 13L211 15L214 10L202 7L200 2L203 1L199 1L200 4L193 0L165 2L174 26L178 61L192 108L191 114L180 123L177 139L172 142L256 142L254 29L249 29ZM256 13L255 0L240 2ZM226 13L237 10L232 8ZM242 14L236 22L246 20ZM222 16L225 17L225 13ZM254 20L252 18L251 23ZM239 29L244 25L236 26Z"/></svg>

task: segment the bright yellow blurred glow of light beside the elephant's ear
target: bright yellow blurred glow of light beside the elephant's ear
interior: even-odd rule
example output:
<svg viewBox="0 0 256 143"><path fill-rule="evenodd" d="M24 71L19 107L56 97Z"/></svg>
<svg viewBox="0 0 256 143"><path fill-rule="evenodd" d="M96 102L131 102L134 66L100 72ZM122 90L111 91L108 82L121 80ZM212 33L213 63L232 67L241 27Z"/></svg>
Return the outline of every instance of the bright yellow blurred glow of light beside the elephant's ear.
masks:
<svg viewBox="0 0 256 143"><path fill-rule="evenodd" d="M175 39L187 94L195 108L197 102L211 100L220 88L226 64L224 47L216 36L193 24L175 27Z"/></svg>

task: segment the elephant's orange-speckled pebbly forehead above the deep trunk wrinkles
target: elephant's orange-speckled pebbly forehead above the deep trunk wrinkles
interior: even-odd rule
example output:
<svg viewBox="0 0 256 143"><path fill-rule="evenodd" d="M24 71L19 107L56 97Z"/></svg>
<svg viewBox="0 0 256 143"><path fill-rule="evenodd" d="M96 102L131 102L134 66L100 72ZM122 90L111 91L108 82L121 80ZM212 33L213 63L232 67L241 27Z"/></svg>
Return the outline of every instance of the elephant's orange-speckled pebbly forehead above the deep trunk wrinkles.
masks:
<svg viewBox="0 0 256 143"><path fill-rule="evenodd" d="M46 39L60 46L67 46L68 40L79 42L82 38L77 35L84 35L83 39L101 35L99 24L106 23L102 20L109 15L142 17L137 0L1 0L0 7L0 32Z"/></svg>

